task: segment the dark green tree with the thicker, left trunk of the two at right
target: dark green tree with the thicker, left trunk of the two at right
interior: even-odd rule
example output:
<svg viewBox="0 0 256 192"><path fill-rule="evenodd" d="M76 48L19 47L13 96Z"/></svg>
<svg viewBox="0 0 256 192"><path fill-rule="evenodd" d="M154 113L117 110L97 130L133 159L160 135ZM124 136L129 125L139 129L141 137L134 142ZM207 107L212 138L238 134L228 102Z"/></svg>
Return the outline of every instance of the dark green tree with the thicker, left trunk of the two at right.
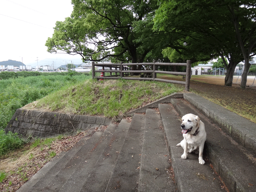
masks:
<svg viewBox="0 0 256 192"><path fill-rule="evenodd" d="M212 52L218 53L227 69L225 85L232 86L234 70L244 60L244 56L239 48L241 43L234 29L234 16L230 10L233 7L240 10L240 6L236 1L230 0L160 0L154 27L176 33L183 38L188 36L197 39L192 42L192 46L195 43L201 44L204 51L210 48ZM243 12L241 15L246 14Z"/></svg>

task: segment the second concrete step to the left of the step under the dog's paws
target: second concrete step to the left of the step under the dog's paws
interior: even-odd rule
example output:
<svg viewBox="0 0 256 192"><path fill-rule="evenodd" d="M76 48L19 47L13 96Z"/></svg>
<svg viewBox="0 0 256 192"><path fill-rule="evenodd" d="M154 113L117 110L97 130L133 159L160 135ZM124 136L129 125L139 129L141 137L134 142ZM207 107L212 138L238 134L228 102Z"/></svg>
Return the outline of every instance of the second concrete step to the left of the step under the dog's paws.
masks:
<svg viewBox="0 0 256 192"><path fill-rule="evenodd" d="M106 192L137 191L145 115L134 114Z"/></svg>

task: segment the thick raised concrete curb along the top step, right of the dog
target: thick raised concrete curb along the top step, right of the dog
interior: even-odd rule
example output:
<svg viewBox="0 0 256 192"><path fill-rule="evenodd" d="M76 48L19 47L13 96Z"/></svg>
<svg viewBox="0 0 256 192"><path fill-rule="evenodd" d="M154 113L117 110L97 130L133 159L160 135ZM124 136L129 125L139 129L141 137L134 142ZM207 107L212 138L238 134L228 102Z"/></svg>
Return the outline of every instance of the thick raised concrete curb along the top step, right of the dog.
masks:
<svg viewBox="0 0 256 192"><path fill-rule="evenodd" d="M194 93L184 93L184 99L206 117L218 124L236 142L256 154L256 124Z"/></svg>

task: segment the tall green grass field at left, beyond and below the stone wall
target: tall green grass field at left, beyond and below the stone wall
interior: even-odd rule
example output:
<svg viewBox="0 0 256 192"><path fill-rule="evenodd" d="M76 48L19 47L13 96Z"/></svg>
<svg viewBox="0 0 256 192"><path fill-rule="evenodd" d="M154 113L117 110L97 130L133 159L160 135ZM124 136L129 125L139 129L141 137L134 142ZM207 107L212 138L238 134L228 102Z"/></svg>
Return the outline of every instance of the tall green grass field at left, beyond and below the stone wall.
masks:
<svg viewBox="0 0 256 192"><path fill-rule="evenodd" d="M16 73L0 73L0 156L11 150L20 148L25 141L18 137L18 134L9 132L6 134L8 122L12 118L14 112L22 106L44 98L52 92L56 92L62 88L68 88L79 82L84 82L92 78L88 74L69 72L60 73L22 73L22 75L13 78Z"/></svg>

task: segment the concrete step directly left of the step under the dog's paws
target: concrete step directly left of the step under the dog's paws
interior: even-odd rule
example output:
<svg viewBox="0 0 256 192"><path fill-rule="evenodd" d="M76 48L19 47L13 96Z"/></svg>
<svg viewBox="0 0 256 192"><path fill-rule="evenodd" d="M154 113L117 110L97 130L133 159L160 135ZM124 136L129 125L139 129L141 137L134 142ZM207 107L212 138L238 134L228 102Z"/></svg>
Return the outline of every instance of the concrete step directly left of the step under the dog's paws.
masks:
<svg viewBox="0 0 256 192"><path fill-rule="evenodd" d="M139 192L175 192L164 130L158 110L147 109L140 161Z"/></svg>

